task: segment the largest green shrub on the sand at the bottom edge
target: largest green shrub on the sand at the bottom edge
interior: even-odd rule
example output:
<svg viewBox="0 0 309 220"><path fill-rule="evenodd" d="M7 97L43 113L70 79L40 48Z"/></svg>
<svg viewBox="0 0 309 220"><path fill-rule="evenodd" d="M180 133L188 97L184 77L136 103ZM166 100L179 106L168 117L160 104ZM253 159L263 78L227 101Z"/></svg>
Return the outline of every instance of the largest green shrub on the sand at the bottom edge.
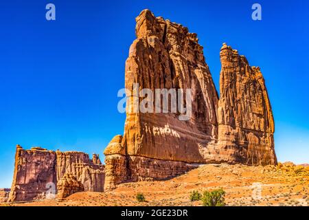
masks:
<svg viewBox="0 0 309 220"><path fill-rule="evenodd" d="M202 197L203 206L225 206L225 191L221 189L205 191Z"/></svg>

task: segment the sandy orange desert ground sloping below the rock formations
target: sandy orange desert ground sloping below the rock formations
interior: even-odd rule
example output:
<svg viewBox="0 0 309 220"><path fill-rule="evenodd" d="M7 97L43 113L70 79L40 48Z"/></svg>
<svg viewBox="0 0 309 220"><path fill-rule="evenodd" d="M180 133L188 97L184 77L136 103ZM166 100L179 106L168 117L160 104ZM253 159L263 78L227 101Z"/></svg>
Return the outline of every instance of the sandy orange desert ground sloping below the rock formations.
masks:
<svg viewBox="0 0 309 220"><path fill-rule="evenodd" d="M207 164L165 181L119 185L109 192L78 192L64 201L14 203L13 206L201 206L190 192L223 188L227 206L308 206L308 168ZM146 202L138 202L137 192Z"/></svg>

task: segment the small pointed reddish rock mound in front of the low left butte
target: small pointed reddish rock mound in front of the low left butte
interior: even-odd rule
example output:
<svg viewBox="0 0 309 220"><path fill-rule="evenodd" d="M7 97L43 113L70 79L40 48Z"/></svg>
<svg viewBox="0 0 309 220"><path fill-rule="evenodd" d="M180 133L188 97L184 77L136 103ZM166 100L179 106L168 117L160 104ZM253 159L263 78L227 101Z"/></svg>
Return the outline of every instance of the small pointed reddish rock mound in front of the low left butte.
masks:
<svg viewBox="0 0 309 220"><path fill-rule="evenodd" d="M57 183L58 199L64 199L69 195L84 191L84 185L76 179L76 175L66 173Z"/></svg>

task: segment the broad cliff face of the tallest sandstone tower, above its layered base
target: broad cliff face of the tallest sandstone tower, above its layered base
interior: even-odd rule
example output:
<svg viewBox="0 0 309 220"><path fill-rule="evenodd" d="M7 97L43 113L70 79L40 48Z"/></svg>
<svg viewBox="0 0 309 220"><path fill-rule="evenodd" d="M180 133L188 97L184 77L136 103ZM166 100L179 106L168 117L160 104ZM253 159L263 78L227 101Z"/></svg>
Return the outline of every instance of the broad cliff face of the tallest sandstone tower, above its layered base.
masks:
<svg viewBox="0 0 309 220"><path fill-rule="evenodd" d="M127 113L122 145L128 155L203 162L198 144L216 133L218 95L196 34L144 10L136 19L137 40L126 61L126 89L192 89L192 117L179 113ZM184 95L185 97L185 95ZM128 108L134 107L134 98ZM155 105L155 101L153 101ZM163 106L161 107L161 109ZM169 109L170 111L170 109Z"/></svg>

